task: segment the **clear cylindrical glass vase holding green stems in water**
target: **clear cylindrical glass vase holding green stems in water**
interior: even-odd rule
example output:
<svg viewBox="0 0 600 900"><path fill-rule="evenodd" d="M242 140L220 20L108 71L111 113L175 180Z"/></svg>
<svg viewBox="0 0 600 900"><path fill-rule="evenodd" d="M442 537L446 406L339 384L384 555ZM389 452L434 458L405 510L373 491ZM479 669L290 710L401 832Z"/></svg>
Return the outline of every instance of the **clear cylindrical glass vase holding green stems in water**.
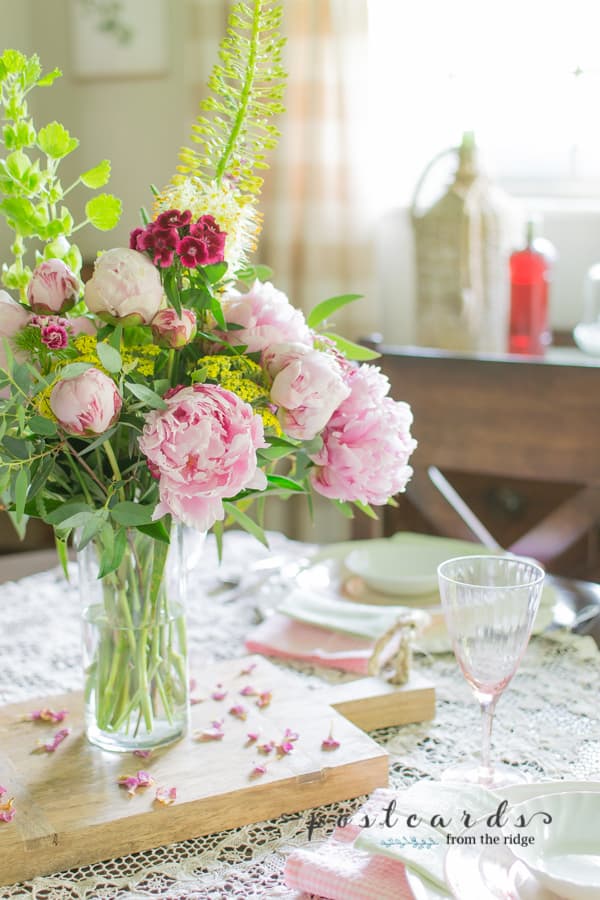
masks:
<svg viewBox="0 0 600 900"><path fill-rule="evenodd" d="M86 732L122 752L177 740L189 717L182 529L172 525L170 544L135 528L125 538L122 561L104 577L111 546L101 537L78 555Z"/></svg>

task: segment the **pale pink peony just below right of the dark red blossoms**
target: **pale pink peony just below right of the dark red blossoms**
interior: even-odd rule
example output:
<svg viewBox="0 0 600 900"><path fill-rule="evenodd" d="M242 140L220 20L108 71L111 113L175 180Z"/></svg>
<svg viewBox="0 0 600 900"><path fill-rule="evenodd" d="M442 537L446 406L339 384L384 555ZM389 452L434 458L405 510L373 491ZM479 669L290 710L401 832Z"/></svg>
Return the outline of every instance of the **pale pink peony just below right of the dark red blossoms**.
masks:
<svg viewBox="0 0 600 900"><path fill-rule="evenodd" d="M221 306L227 322L242 326L228 331L225 340L229 344L244 344L248 353L283 342L312 343L302 312L270 281L255 281L246 294L230 291L222 298Z"/></svg>

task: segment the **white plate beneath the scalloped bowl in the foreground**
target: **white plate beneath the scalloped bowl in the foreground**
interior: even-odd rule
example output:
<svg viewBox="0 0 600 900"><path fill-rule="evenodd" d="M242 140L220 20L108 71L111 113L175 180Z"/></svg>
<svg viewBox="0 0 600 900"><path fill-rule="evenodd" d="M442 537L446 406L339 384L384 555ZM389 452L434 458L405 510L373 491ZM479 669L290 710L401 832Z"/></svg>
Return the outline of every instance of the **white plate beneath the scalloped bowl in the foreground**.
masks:
<svg viewBox="0 0 600 900"><path fill-rule="evenodd" d="M520 784L498 793L509 801L508 813L510 821L513 822L520 815L519 810L524 801L541 802L541 798L547 798L548 795L562 795L566 800L567 797L581 791L595 795L600 802L600 781ZM581 824L585 827L585 823ZM590 824L588 822L588 825ZM510 831L516 833L520 829ZM486 833L485 826L477 826L472 833L478 839L475 845L454 845L450 847L446 856L446 878L452 895L457 900L556 900L561 896L542 884L517 858L514 845L510 849L504 844L498 847L482 845L479 838ZM487 833L492 832L488 830ZM531 832L527 830L527 833ZM434 900L434 896L431 895L431 900ZM596 890L592 896L597 898L600 894Z"/></svg>

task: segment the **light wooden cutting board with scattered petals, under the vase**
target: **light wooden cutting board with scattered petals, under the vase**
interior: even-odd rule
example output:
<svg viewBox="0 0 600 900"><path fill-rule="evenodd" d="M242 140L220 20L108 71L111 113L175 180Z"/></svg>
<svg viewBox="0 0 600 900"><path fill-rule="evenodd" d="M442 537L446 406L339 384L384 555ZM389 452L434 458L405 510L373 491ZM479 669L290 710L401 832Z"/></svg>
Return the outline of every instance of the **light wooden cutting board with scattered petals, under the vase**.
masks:
<svg viewBox="0 0 600 900"><path fill-rule="evenodd" d="M251 663L255 663L251 675L241 675ZM194 694L204 699L192 707L190 734L148 760L89 744L81 694L0 709L0 784L7 788L6 796L15 798L17 809L12 822L0 822L0 884L367 794L387 784L387 754L330 704L339 701L355 721L371 728L391 724L390 717L418 721L434 713L433 689L424 682L399 692L375 679L353 682L354 693L348 685L310 690L258 656L215 664L196 681ZM210 698L219 683L227 690L220 702ZM240 696L247 684L271 690L270 705L259 709L255 698ZM392 693L400 697L396 705ZM248 709L246 721L228 713L240 702ZM50 754L32 750L63 724L19 721L43 707L69 710L63 724L71 734ZM195 730L222 718L222 740L194 739ZM259 743L280 741L286 728L299 735L289 755L263 756L255 745L248 746L248 732L259 731ZM321 743L331 730L340 746L323 750ZM250 777L259 762L266 763L266 774ZM138 769L149 771L155 784L130 797L117 779ZM176 803L157 804L158 786L176 787Z"/></svg>

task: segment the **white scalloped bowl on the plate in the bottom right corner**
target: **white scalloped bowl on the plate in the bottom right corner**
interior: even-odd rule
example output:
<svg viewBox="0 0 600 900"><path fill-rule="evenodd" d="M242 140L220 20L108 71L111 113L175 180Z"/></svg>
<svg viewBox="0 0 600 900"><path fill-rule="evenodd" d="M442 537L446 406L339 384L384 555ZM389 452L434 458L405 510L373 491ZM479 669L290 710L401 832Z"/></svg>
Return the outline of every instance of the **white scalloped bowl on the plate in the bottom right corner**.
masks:
<svg viewBox="0 0 600 900"><path fill-rule="evenodd" d="M526 800L515 814L530 821L534 839L513 848L538 881L567 900L600 897L600 794L549 794Z"/></svg>

